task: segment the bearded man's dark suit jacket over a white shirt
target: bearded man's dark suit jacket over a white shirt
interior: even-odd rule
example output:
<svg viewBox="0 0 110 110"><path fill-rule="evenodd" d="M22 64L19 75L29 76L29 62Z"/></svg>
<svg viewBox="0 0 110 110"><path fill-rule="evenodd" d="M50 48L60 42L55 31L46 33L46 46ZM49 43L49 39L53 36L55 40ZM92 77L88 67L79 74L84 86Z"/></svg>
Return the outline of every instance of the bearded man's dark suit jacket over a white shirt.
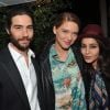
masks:
<svg viewBox="0 0 110 110"><path fill-rule="evenodd" d="M37 98L41 110L46 110L43 109L38 65L34 58L32 62L36 72ZM31 110L22 78L8 47L0 51L0 110Z"/></svg>

